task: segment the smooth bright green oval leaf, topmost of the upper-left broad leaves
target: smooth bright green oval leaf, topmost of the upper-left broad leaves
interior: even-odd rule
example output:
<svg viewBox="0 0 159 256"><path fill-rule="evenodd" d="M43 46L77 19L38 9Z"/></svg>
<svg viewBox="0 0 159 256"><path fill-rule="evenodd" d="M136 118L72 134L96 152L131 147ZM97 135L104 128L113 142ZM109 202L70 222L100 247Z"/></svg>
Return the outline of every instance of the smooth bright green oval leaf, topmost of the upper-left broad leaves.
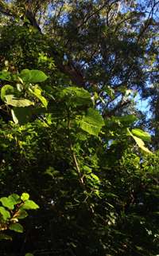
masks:
<svg viewBox="0 0 159 256"><path fill-rule="evenodd" d="M26 83L40 83L48 78L44 72L37 69L23 69L19 74L19 77Z"/></svg>

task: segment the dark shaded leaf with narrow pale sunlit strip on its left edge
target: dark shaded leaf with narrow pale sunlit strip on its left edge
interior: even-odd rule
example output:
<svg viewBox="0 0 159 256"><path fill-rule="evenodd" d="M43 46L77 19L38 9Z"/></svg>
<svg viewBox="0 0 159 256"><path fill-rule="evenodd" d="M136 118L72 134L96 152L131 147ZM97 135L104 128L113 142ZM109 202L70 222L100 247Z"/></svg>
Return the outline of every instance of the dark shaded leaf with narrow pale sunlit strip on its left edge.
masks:
<svg viewBox="0 0 159 256"><path fill-rule="evenodd" d="M26 124L29 122L32 116L32 108L24 107L24 108L13 108L11 109L12 118L15 124Z"/></svg>

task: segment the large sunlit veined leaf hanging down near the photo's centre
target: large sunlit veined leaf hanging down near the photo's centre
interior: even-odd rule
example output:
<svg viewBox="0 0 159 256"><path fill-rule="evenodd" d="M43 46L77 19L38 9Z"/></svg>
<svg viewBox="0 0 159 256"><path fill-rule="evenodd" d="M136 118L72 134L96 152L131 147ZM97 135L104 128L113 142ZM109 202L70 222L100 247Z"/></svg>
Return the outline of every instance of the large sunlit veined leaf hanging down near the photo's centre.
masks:
<svg viewBox="0 0 159 256"><path fill-rule="evenodd" d="M89 108L87 115L80 120L80 128L91 135L98 136L104 125L103 117L93 108Z"/></svg>

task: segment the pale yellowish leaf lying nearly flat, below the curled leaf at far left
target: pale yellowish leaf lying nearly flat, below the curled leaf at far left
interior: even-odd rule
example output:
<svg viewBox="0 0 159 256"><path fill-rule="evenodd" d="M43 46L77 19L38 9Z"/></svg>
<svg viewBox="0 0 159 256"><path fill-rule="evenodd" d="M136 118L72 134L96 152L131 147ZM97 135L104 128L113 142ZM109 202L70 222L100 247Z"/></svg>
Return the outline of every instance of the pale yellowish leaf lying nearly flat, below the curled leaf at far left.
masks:
<svg viewBox="0 0 159 256"><path fill-rule="evenodd" d="M14 95L6 95L6 104L12 105L14 107L28 107L34 103L27 99L16 98Z"/></svg>

